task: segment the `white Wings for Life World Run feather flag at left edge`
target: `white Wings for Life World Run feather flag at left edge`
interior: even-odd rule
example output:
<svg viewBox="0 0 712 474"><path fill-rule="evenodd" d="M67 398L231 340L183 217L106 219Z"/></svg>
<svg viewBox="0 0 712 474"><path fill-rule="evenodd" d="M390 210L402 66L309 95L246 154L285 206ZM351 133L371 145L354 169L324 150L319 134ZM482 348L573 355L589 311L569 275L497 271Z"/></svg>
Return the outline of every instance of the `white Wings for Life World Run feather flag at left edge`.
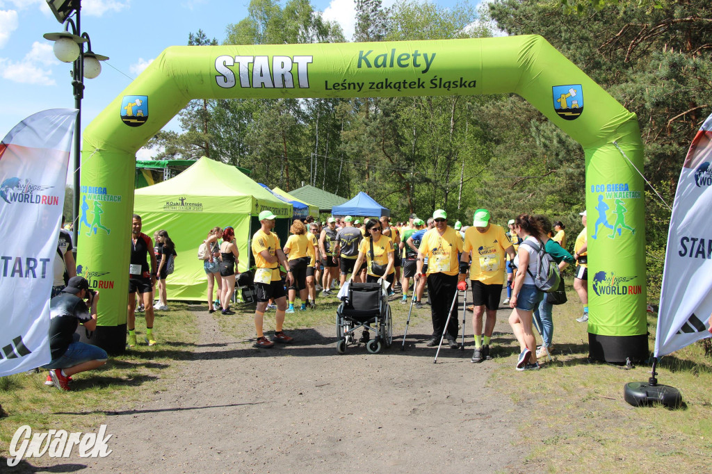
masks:
<svg viewBox="0 0 712 474"><path fill-rule="evenodd" d="M51 360L49 300L76 115L38 112L0 142L0 376Z"/></svg>

